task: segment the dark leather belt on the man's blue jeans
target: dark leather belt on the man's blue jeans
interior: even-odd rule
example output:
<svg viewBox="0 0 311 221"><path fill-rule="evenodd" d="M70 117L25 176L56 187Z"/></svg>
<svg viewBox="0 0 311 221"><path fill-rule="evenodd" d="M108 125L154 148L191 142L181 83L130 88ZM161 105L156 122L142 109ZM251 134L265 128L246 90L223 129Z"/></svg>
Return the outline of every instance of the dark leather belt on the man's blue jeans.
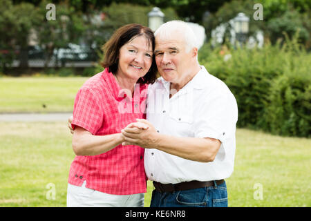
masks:
<svg viewBox="0 0 311 221"><path fill-rule="evenodd" d="M216 184L222 184L225 180L215 180ZM188 189L196 189L208 186L214 186L214 181L190 181L190 182L180 182L178 184L161 184L160 182L153 181L153 186L160 193L164 192L174 192L174 191L186 191Z"/></svg>

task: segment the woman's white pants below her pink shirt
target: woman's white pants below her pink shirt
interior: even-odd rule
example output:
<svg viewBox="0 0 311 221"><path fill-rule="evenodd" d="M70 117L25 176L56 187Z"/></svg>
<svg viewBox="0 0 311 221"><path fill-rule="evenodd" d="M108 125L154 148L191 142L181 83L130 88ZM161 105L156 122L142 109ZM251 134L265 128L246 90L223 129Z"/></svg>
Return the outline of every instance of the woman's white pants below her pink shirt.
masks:
<svg viewBox="0 0 311 221"><path fill-rule="evenodd" d="M144 207L144 193L133 195L112 195L82 186L68 184L68 207Z"/></svg>

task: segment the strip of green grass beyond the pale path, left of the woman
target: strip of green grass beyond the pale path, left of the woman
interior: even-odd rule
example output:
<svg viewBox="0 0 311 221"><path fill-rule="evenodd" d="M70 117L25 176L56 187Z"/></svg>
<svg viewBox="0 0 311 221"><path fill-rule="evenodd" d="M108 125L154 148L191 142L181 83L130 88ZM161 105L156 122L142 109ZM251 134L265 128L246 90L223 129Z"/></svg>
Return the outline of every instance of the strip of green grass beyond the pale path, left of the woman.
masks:
<svg viewBox="0 0 311 221"><path fill-rule="evenodd" d="M0 113L70 112L88 77L1 77Z"/></svg>

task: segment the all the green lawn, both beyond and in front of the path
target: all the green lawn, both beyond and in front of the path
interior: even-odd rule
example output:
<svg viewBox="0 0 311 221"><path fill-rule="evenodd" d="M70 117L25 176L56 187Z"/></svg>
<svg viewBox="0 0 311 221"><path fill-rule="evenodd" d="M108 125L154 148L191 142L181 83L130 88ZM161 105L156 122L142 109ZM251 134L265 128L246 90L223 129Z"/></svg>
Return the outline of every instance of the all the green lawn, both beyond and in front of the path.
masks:
<svg viewBox="0 0 311 221"><path fill-rule="evenodd" d="M1 77L0 113L71 112L86 79ZM74 158L66 122L0 122L0 155L0 206L66 206ZM238 129L229 206L311 206L310 165L311 139ZM151 191L148 182L145 206Z"/></svg>

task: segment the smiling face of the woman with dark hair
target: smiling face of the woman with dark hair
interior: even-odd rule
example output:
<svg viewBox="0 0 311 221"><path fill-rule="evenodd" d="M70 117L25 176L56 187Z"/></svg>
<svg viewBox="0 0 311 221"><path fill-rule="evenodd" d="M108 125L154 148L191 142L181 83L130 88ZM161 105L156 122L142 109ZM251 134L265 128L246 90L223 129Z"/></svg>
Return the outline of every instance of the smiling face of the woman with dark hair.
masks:
<svg viewBox="0 0 311 221"><path fill-rule="evenodd" d="M152 64L152 45L144 36L134 37L120 48L117 76L137 81L147 74Z"/></svg>

